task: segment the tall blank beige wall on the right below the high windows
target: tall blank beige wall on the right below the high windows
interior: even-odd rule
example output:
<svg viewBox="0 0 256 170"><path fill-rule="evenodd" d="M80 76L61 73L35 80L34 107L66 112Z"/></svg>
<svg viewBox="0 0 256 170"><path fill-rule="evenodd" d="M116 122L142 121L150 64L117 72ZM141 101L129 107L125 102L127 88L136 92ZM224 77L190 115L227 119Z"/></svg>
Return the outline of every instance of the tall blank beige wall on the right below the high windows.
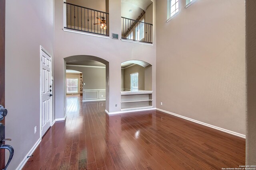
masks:
<svg viewBox="0 0 256 170"><path fill-rule="evenodd" d="M244 1L185 5L166 23L167 1L157 1L156 106L245 134Z"/></svg>

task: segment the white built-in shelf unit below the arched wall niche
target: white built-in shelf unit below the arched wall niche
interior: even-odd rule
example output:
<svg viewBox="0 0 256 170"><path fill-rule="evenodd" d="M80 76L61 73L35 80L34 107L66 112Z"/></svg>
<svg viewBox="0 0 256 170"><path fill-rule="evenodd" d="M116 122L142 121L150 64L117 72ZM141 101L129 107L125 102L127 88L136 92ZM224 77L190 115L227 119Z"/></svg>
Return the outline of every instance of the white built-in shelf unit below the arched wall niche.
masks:
<svg viewBox="0 0 256 170"><path fill-rule="evenodd" d="M122 91L121 111L152 108L153 91Z"/></svg>

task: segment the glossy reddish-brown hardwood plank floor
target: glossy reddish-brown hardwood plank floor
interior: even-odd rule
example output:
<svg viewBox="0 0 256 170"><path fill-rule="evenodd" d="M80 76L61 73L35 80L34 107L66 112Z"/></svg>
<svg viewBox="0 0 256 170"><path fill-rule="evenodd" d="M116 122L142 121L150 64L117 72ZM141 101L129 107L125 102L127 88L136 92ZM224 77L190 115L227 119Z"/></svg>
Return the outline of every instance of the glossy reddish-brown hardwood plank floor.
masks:
<svg viewBox="0 0 256 170"><path fill-rule="evenodd" d="M217 170L245 164L245 139L145 111L108 116L105 102L67 98L24 170Z"/></svg>

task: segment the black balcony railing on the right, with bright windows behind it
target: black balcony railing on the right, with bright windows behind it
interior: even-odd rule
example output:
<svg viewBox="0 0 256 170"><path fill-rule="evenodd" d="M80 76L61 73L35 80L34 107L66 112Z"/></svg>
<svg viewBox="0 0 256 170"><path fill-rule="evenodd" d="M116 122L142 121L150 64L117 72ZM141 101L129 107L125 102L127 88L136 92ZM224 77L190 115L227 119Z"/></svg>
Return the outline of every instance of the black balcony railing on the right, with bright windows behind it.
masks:
<svg viewBox="0 0 256 170"><path fill-rule="evenodd" d="M122 17L122 39L152 43L153 24Z"/></svg>

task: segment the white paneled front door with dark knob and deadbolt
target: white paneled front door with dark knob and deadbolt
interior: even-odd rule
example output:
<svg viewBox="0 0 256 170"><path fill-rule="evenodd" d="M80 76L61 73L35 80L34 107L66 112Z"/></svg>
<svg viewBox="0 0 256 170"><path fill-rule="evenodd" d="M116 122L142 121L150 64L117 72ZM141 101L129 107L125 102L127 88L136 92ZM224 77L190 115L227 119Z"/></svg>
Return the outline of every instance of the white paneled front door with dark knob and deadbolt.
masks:
<svg viewBox="0 0 256 170"><path fill-rule="evenodd" d="M41 137L51 126L52 113L52 60L42 49L41 51Z"/></svg>

